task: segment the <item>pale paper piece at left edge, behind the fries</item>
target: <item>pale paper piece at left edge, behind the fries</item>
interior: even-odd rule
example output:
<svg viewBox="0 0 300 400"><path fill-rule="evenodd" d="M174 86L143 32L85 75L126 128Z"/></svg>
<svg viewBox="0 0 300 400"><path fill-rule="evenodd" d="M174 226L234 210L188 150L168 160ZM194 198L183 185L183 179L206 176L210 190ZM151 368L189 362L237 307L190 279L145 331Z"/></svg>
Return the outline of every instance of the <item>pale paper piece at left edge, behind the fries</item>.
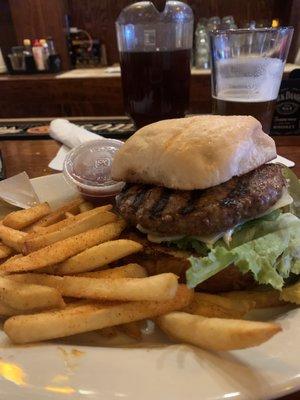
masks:
<svg viewBox="0 0 300 400"><path fill-rule="evenodd" d="M0 181L0 198L20 208L30 208L39 203L26 172Z"/></svg>

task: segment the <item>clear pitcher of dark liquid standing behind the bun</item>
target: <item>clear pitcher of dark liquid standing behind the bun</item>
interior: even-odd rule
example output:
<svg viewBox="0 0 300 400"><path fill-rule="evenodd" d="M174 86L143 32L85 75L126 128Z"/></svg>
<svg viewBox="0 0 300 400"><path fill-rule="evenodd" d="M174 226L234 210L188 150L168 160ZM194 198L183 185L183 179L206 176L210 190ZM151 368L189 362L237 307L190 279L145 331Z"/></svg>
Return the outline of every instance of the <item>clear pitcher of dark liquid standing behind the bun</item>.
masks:
<svg viewBox="0 0 300 400"><path fill-rule="evenodd" d="M179 1L126 7L117 22L124 107L137 128L184 117L189 104L193 13Z"/></svg>

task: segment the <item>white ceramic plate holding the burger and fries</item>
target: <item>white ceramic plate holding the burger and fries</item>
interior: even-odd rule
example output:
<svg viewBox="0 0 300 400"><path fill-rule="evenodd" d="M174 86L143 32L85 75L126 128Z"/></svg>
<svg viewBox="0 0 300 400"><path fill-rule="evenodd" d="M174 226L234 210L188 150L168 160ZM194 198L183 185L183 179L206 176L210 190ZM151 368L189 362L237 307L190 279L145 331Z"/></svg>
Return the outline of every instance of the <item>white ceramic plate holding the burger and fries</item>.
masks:
<svg viewBox="0 0 300 400"><path fill-rule="evenodd" d="M40 200L73 196L61 174L33 179ZM248 350L208 353L155 333L144 343L72 339L12 346L0 336L0 399L271 399L300 389L300 309L260 312L283 332ZM122 344L123 343L123 344ZM110 345L110 347L107 347Z"/></svg>

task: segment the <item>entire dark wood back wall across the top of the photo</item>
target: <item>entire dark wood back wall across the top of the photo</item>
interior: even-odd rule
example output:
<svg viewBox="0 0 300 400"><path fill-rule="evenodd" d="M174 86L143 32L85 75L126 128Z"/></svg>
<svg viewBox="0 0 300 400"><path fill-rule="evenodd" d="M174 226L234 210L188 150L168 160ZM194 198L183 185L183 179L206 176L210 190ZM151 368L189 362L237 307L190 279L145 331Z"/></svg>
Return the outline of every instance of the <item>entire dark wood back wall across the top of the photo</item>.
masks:
<svg viewBox="0 0 300 400"><path fill-rule="evenodd" d="M162 4L163 0L154 0ZM293 61L299 43L299 0L185 0L191 5L195 21L200 17L233 15L239 26L255 20L269 25L273 18L281 24L296 26L289 60ZM65 19L68 13L72 26L86 29L107 47L109 64L118 61L115 21L120 11L132 0L0 0L0 45L10 47L24 37L34 39L53 36L63 59L63 67L69 66L65 38ZM12 20L8 4L11 6ZM14 25L14 26L13 26ZM14 33L16 31L16 35Z"/></svg>

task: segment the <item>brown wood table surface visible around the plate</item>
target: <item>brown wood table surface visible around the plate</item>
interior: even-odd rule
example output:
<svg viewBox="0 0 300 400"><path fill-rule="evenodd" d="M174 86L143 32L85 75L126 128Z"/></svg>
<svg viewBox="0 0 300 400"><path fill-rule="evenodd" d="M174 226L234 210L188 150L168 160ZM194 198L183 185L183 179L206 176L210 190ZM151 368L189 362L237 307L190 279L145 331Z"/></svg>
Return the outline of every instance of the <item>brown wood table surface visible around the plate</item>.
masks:
<svg viewBox="0 0 300 400"><path fill-rule="evenodd" d="M275 137L275 141L278 154L295 161L294 171L300 177L300 137ZM7 177L22 171L26 171L30 178L57 172L51 170L48 164L59 147L60 144L54 140L0 140ZM300 391L280 399L299 400Z"/></svg>

